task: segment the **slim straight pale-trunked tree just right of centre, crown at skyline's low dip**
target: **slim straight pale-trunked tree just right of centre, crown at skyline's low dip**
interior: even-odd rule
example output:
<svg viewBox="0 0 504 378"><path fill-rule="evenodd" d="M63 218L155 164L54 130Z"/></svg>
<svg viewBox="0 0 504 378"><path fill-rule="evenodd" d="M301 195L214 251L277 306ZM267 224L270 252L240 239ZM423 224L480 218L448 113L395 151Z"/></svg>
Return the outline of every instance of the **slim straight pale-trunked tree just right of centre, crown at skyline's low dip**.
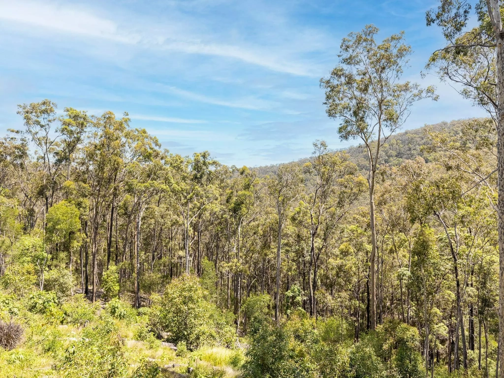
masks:
<svg viewBox="0 0 504 378"><path fill-rule="evenodd" d="M284 164L278 167L278 171L268 182L270 196L273 197L278 216L277 233L277 271L276 271L276 293L275 293L275 321L280 321L280 268L282 250L282 229L285 225L288 212L292 203L300 194L300 185L303 176L299 164Z"/></svg>

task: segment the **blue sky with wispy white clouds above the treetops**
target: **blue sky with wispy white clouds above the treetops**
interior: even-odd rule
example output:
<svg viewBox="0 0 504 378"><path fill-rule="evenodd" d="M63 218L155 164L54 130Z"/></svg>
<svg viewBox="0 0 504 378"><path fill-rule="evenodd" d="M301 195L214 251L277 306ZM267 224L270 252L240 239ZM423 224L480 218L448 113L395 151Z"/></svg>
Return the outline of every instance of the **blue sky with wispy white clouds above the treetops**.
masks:
<svg viewBox="0 0 504 378"><path fill-rule="evenodd" d="M208 150L228 165L339 149L320 78L341 39L366 24L401 30L414 53L404 79L436 85L405 129L484 115L447 84L420 76L444 45L425 26L435 0L0 0L0 136L22 129L17 105L128 112L172 153Z"/></svg>

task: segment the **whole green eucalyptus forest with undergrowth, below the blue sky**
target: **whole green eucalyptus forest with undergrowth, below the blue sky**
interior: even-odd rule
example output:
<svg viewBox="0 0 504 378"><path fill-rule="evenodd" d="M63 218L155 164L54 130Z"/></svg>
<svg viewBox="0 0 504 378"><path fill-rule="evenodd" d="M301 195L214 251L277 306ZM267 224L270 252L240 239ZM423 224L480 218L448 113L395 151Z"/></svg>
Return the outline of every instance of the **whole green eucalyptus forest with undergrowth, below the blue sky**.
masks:
<svg viewBox="0 0 504 378"><path fill-rule="evenodd" d="M447 41L426 70L487 117L403 130L436 90L403 79L404 33L367 25L320 81L355 146L316 140L285 164L181 156L128 113L20 104L0 139L0 376L504 374L498 7L473 7L471 28L466 2L426 17Z"/></svg>

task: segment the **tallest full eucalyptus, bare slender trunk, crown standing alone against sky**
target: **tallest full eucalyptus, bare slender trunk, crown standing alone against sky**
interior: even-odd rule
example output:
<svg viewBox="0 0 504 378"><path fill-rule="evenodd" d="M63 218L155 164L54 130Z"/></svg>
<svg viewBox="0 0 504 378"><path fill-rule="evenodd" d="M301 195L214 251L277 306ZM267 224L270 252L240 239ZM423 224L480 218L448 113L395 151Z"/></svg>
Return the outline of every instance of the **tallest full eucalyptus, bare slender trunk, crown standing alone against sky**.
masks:
<svg viewBox="0 0 504 378"><path fill-rule="evenodd" d="M434 88L421 89L416 83L400 82L408 64L411 46L404 32L376 41L379 30L367 25L350 33L340 46L339 65L329 78L321 79L326 90L327 114L341 121L342 140L358 138L367 153L367 183L371 231L370 294L371 329L376 327L376 220L374 191L380 150L390 136L406 122L411 106L423 99L437 99Z"/></svg>

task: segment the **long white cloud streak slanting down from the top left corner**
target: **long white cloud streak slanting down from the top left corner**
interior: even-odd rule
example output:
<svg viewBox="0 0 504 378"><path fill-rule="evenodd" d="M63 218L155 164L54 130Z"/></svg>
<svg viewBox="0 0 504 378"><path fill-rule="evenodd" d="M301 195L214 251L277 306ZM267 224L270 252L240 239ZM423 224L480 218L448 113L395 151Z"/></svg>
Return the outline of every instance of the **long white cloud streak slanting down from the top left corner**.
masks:
<svg viewBox="0 0 504 378"><path fill-rule="evenodd" d="M259 46L242 47L216 43L208 36L191 36L187 30L177 30L176 25L164 29L140 24L121 26L117 21L98 16L89 9L75 5L58 5L34 0L15 2L0 0L0 20L43 27L60 33L138 45L143 48L232 58L291 75L317 76L310 65Z"/></svg>

